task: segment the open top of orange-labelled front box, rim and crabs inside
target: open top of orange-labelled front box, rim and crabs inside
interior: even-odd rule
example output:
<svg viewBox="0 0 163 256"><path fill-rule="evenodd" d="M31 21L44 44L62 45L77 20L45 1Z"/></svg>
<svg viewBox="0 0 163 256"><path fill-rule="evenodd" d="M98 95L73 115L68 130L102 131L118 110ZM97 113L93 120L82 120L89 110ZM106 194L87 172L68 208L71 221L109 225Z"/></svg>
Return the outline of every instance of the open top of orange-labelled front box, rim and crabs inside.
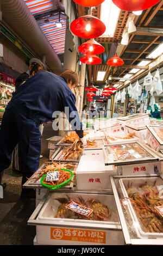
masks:
<svg viewBox="0 0 163 256"><path fill-rule="evenodd" d="M66 206L73 200L77 205L84 208L93 210L89 212L88 216L85 211L77 206L74 210L82 212L79 214L77 211L68 209ZM79 210L80 209L80 210ZM41 209L36 220L41 220L55 223L59 225L68 225L68 223L74 226L83 225L87 227L92 224L93 227L109 228L110 225L120 225L118 218L116 204L114 196L109 194L98 193L51 193L49 194L45 205Z"/></svg>

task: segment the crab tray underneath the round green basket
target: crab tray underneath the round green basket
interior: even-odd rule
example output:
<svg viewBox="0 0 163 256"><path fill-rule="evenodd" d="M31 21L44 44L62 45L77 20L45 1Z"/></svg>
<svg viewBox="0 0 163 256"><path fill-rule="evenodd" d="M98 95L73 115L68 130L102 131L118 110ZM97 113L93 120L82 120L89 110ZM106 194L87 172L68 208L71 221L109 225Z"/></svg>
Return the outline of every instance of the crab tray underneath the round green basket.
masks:
<svg viewBox="0 0 163 256"><path fill-rule="evenodd" d="M57 164L59 164L59 165L64 164L64 166L62 166L62 168L71 170L73 172L72 180L70 182L68 182L68 184L66 184L66 186L64 186L63 188L73 187L75 185L76 169L78 167L78 163L61 161L60 163L57 162ZM41 184L41 178L46 173L42 172L42 175L41 175L41 170L45 170L47 168L50 171L52 165L54 166L54 164L52 162L43 163L42 166L38 170L36 170L36 172L30 177L30 179L23 185L23 187L27 187L27 188L32 188L32 187L33 188L45 188ZM61 168L61 166L60 166L60 168Z"/></svg>

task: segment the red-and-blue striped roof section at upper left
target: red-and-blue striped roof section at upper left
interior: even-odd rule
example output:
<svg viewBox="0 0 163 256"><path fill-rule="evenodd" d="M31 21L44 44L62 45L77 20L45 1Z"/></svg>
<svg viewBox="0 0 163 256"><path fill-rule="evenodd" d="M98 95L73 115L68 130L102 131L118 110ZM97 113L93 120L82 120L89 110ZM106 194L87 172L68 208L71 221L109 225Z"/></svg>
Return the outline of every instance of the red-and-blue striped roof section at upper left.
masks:
<svg viewBox="0 0 163 256"><path fill-rule="evenodd" d="M67 19L64 5L59 0L24 0L24 2L54 51L58 55L64 54ZM58 28L56 22L61 22L62 27Z"/></svg>

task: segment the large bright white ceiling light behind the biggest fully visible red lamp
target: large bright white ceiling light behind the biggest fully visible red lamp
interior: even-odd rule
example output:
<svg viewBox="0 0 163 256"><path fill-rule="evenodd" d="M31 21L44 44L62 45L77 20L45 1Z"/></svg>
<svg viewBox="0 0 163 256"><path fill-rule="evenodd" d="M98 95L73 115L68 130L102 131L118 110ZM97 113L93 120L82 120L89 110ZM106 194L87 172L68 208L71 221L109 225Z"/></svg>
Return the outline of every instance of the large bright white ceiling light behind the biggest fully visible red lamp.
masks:
<svg viewBox="0 0 163 256"><path fill-rule="evenodd" d="M101 5L101 21L106 26L106 31L102 37L113 37L117 26L121 9L116 7L111 0L105 0Z"/></svg>

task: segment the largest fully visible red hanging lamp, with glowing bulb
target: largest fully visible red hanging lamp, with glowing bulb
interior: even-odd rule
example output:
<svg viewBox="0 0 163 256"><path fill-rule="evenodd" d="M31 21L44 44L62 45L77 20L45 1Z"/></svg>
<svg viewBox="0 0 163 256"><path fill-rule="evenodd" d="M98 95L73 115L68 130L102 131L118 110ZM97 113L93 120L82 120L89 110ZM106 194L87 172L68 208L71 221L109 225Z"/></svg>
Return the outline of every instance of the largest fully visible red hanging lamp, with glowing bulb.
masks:
<svg viewBox="0 0 163 256"><path fill-rule="evenodd" d="M79 17L71 22L71 32L79 38L98 38L104 34L106 27L105 24L90 14Z"/></svg>

